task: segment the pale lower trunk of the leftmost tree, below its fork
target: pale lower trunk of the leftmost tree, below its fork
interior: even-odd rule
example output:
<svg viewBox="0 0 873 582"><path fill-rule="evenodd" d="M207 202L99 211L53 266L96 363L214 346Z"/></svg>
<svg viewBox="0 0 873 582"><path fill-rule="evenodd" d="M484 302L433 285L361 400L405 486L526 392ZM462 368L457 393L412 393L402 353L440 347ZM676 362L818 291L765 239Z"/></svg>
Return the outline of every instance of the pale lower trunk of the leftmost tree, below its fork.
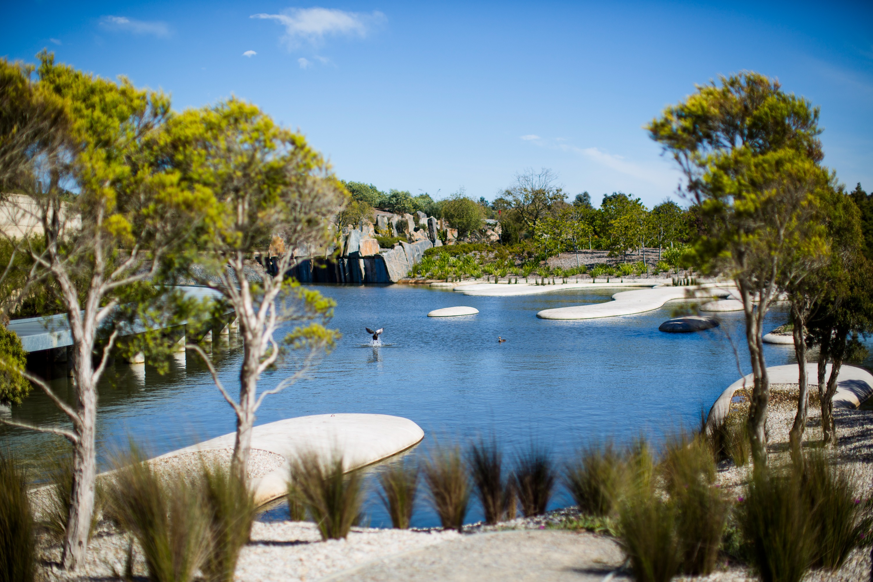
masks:
<svg viewBox="0 0 873 582"><path fill-rule="evenodd" d="M87 344L86 346L84 344ZM73 380L78 396L77 412L82 423L74 426L79 442L72 451L72 491L67 514L66 535L61 554L61 563L66 570L75 570L85 564L88 549L88 534L94 512L94 481L96 479L96 451L94 429L97 424L97 391L92 381L90 346L93 342L79 345L75 353Z"/></svg>

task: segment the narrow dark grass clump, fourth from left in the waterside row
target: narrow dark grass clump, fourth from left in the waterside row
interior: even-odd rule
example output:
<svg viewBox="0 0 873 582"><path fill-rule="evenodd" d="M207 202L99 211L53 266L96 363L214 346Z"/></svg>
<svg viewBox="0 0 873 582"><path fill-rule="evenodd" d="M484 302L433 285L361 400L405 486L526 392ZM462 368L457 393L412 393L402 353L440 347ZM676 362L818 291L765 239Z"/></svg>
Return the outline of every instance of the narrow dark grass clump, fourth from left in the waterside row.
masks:
<svg viewBox="0 0 873 582"><path fill-rule="evenodd" d="M485 513L485 523L497 524L503 519L515 517L515 490L512 479L507 479L503 471L503 452L496 439L484 442L481 439L470 447L470 472L479 502Z"/></svg>

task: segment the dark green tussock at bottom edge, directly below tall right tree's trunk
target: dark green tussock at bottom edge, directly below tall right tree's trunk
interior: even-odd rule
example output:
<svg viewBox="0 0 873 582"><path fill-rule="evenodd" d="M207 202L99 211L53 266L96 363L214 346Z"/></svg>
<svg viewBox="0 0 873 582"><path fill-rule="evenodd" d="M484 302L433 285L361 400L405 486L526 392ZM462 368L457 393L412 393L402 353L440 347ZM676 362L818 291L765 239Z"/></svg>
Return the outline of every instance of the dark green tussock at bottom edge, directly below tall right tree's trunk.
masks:
<svg viewBox="0 0 873 582"><path fill-rule="evenodd" d="M796 471L756 470L738 520L764 582L799 582L815 561L817 525Z"/></svg>

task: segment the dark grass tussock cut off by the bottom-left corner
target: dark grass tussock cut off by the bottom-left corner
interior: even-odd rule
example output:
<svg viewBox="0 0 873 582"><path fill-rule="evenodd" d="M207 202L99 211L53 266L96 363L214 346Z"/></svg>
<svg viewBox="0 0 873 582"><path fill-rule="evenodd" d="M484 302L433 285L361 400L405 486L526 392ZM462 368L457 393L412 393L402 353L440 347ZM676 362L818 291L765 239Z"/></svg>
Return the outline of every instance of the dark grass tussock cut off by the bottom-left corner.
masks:
<svg viewBox="0 0 873 582"><path fill-rule="evenodd" d="M34 534L24 472L13 455L0 450L0 582L32 582Z"/></svg>

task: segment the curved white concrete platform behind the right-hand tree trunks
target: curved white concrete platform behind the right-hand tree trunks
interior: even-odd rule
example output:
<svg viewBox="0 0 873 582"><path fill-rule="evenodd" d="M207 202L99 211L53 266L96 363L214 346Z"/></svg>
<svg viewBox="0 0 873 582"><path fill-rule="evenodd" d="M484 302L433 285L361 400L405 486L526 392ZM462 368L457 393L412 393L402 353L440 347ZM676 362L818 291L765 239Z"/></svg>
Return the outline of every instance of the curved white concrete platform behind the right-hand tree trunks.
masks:
<svg viewBox="0 0 873 582"><path fill-rule="evenodd" d="M830 376L830 364L826 369L826 377ZM787 364L786 366L768 366L766 369L767 376L771 384L797 384L800 380L800 371L797 364ZM807 364L807 378L812 379L810 388L815 389L816 378L818 377L818 364L811 362ZM745 378L740 378L731 386L726 387L725 391L718 396L718 400L710 408L709 415L706 417L706 427L715 426L719 421L727 416L730 411L731 400L733 393L743 387L743 383L749 390L753 387L753 375L750 373ZM835 408L857 408L870 396L873 396L873 374L863 368L855 366L846 366L843 364L840 367L840 374L836 377L836 393L834 394Z"/></svg>

